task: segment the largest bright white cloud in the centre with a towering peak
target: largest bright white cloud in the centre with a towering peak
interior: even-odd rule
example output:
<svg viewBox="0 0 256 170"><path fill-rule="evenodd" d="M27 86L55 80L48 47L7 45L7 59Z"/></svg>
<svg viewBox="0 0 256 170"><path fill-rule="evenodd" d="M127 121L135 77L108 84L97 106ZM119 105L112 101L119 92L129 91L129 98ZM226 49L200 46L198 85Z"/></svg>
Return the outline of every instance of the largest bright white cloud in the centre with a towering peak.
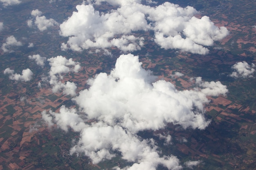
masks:
<svg viewBox="0 0 256 170"><path fill-rule="evenodd" d="M91 87L74 100L89 119L114 124L115 119L123 117L122 126L134 132L157 130L166 125L164 122L179 122L184 128L202 129L208 125L203 116L206 95L222 94L225 86L214 82L207 86L204 82L200 85L205 88L200 91L177 91L173 84L163 80L151 84L152 75L140 65L138 57L121 55L110 75L100 73L91 79ZM198 112L193 112L194 108Z"/></svg>

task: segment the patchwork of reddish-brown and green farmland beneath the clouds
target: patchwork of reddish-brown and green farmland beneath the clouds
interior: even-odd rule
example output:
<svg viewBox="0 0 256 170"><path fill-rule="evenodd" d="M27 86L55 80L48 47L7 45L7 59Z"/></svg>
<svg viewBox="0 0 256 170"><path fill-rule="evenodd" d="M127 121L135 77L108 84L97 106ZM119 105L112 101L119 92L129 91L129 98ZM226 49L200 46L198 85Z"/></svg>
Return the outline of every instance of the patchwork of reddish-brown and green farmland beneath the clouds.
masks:
<svg viewBox="0 0 256 170"><path fill-rule="evenodd" d="M31 11L39 9L46 18L54 18L58 23L65 22L74 16L73 12L77 11L76 5L86 4L85 1L22 0L20 4L7 6L2 4L4 1L0 1L3 5L0 22L4 25L4 29L0 31L2 46L0 50L0 170L110 170L113 168L121 170L143 162L144 157L134 161L125 159L121 149L110 149L110 154L115 155L111 159L106 157L99 162L92 161L90 154L86 155L86 152L79 152L77 149L79 144L83 148L83 144L79 142L83 140L82 132L85 133L85 131L74 128L79 125L83 117L86 117L83 126L89 128L94 128L94 125L99 126L100 122L104 124L107 122L105 117L102 118L104 115L91 116L90 109L88 113L83 113L87 108L79 102L83 101L83 92L90 94L90 89L93 89L101 73L114 75L117 61L121 58L119 56L130 53L139 56L141 67L155 77L155 82L170 82L175 86L175 91L180 93L201 92L202 90L198 89L202 86L197 83L197 77L201 77L205 82L219 81L227 87L228 92L207 95L208 102L203 103L202 113L205 121L208 122L205 128L192 126L184 128L182 122L164 121L163 124L166 124L164 128L150 126L150 128L138 128L135 132L128 131L129 126L122 126L125 127L123 129L126 130L126 134L136 136L136 140L138 139L141 143L148 142L147 146L157 152L160 158L165 155L176 157L181 165L180 169L256 169L256 74L252 71L247 77L232 77L234 65L238 62L248 63L252 66L251 70L255 68L256 2L253 0L168 1L182 8L194 7L200 11L195 15L196 18L207 15L215 26L227 28L229 34L222 40L214 41L213 46L207 46L209 49L207 54L178 48L161 48L156 41L152 40L155 38L154 30L132 32L136 38L144 40L144 45L137 51L124 53L119 46L107 47L108 54L104 49L97 51L96 47L87 49L81 47L82 50L76 51L72 49L72 44L68 44L69 38L75 35L60 36L60 26L63 24L54 24L46 31L39 31L36 26L29 27L27 21L33 21ZM141 0L141 4L146 2L149 3ZM166 1L154 2L157 3L150 5L157 6ZM94 4L95 11L99 13L107 13L117 8L117 5L108 4L105 1ZM34 23L36 24L36 21ZM7 43L10 35L22 42L22 45L8 46L8 52L5 52L2 44ZM117 39L118 36L113 37ZM65 47L61 45L63 42L66 42L70 49L63 50ZM27 47L29 45L31 47ZM44 65L36 64L35 60L29 57L36 54L45 57ZM68 64L65 65L68 71L57 73L54 70L57 69L54 68L56 56L62 56L68 60L66 61ZM22 81L22 78L11 79L11 74L14 75L14 73L7 72L7 68L19 74L23 73L22 70L25 68L29 68L33 75L29 81L26 79ZM52 73L54 71L55 73ZM119 79L116 79L116 82L118 81ZM72 83L76 85L75 94L70 92ZM54 87L57 88L58 85L61 86L59 88L61 90L55 91ZM65 91L67 85L70 85L69 92ZM110 88L107 83L102 86ZM76 110L79 121L75 125L67 125L65 129L66 127L61 126L61 118L54 117L54 113L61 113L62 109L67 110L67 108L71 113L73 113L72 109ZM196 109L198 108L194 110ZM45 118L43 118L44 114ZM47 122L49 117L52 117L49 121L52 124ZM121 124L120 122L118 123ZM113 123L115 126L112 126L111 121L107 123L111 127L119 125ZM155 145L151 146L150 142ZM114 144L110 145L114 146ZM71 154L71 148L76 148L76 152ZM161 163L155 168L157 170L175 169Z"/></svg>

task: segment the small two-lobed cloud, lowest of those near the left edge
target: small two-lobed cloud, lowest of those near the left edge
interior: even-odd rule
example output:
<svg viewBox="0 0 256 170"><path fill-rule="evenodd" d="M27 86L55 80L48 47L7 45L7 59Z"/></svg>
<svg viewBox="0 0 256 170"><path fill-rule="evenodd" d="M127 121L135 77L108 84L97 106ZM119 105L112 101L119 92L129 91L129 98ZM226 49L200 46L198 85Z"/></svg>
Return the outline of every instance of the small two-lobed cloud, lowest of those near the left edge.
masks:
<svg viewBox="0 0 256 170"><path fill-rule="evenodd" d="M21 81L21 82L28 82L29 80L32 79L32 71L27 68L25 70L22 70L22 75L15 73L14 70L11 70L10 68L6 68L4 70L4 74L9 75L9 79L11 80L16 80L16 81Z"/></svg>

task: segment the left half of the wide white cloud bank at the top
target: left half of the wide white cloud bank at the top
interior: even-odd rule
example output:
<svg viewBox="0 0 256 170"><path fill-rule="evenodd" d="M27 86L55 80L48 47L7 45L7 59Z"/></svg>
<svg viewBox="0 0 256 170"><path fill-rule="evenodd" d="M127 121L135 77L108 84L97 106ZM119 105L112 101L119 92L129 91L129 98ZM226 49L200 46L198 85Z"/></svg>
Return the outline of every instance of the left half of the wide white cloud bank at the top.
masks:
<svg viewBox="0 0 256 170"><path fill-rule="evenodd" d="M127 35L147 27L143 13L134 13L128 18L118 12L100 15L92 5L77 5L78 12L60 25L60 34L69 37L62 49L81 51L88 48L116 46L123 51L134 51L143 45L143 38ZM136 15L136 19L135 16ZM119 35L118 38L114 38Z"/></svg>

